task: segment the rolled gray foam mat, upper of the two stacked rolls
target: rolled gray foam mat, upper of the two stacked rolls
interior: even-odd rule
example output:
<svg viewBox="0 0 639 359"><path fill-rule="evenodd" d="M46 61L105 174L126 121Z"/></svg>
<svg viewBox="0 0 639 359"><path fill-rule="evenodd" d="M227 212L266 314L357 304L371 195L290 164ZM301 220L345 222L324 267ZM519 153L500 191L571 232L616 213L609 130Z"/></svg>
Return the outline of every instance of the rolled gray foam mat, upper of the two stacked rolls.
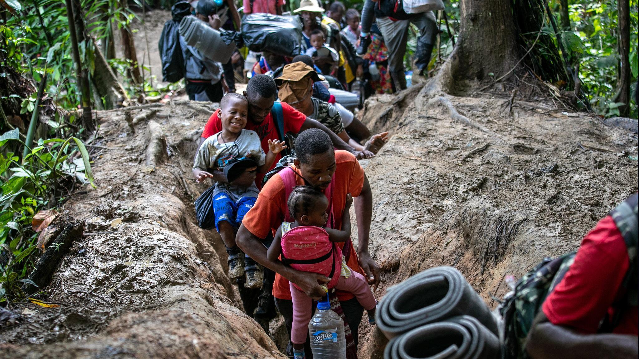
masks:
<svg viewBox="0 0 639 359"><path fill-rule="evenodd" d="M376 324L388 339L435 321L472 316L497 335L497 322L464 276L453 267L440 266L413 275L390 287L375 314Z"/></svg>

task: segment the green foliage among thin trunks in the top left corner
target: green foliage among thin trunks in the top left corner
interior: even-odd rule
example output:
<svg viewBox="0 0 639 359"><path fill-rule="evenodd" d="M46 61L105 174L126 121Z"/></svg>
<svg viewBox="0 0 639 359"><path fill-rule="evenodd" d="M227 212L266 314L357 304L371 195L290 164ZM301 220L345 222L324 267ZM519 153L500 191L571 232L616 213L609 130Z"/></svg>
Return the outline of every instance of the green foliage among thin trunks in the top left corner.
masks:
<svg viewBox="0 0 639 359"><path fill-rule="evenodd" d="M86 29L97 42L113 39L113 28L128 26L135 19L133 11L122 9L117 0L79 0L84 11ZM136 1L137 2L137 1ZM25 1L26 3L26 1ZM79 89L75 84L66 6L64 0L38 0L38 7L24 6L17 15L9 15L6 23L0 20L0 32L4 34L4 43L0 51L6 54L7 65L19 73L31 77L36 82L48 63L49 79L45 93L54 98L64 109L75 109L80 104ZM139 3L140 4L140 3ZM38 17L42 15L42 22ZM50 40L47 38L50 34ZM89 77L95 71L95 48L90 39L78 43L83 68L89 69ZM123 67L115 67L123 75ZM129 95L135 97L141 88L128 86ZM30 100L34 102L35 97ZM24 112L31 112L29 103L22 103ZM24 113L23 112L23 113Z"/></svg>

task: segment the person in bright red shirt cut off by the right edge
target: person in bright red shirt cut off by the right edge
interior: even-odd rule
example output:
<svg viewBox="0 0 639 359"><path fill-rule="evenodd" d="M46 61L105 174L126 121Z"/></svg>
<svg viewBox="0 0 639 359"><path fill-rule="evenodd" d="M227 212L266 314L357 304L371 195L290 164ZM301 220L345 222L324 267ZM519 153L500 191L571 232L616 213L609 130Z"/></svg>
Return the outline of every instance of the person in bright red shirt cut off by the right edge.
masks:
<svg viewBox="0 0 639 359"><path fill-rule="evenodd" d="M532 359L637 359L637 194L597 223L528 333Z"/></svg>

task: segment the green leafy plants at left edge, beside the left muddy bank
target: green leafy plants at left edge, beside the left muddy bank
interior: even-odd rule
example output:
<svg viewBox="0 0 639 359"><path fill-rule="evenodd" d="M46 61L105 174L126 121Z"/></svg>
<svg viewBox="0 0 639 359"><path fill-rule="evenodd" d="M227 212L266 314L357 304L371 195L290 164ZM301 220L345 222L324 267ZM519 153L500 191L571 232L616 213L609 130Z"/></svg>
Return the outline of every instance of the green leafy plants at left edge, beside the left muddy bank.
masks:
<svg viewBox="0 0 639 359"><path fill-rule="evenodd" d="M38 253L33 216L56 208L76 180L93 185L89 154L77 137L40 139L21 162L10 144L24 146L17 129L0 136L0 302L24 297L20 286Z"/></svg>

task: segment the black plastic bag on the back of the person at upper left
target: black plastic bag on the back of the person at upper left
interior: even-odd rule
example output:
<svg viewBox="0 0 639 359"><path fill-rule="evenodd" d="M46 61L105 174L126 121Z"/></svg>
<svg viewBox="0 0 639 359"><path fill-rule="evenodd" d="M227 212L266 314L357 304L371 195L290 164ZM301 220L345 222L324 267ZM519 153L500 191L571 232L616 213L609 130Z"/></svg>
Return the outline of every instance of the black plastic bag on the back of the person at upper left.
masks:
<svg viewBox="0 0 639 359"><path fill-rule="evenodd" d="M180 47L178 27L183 17L190 15L191 5L187 1L179 1L171 8L172 19L167 20L162 28L158 49L162 58L162 80L177 82L184 77L184 57Z"/></svg>

